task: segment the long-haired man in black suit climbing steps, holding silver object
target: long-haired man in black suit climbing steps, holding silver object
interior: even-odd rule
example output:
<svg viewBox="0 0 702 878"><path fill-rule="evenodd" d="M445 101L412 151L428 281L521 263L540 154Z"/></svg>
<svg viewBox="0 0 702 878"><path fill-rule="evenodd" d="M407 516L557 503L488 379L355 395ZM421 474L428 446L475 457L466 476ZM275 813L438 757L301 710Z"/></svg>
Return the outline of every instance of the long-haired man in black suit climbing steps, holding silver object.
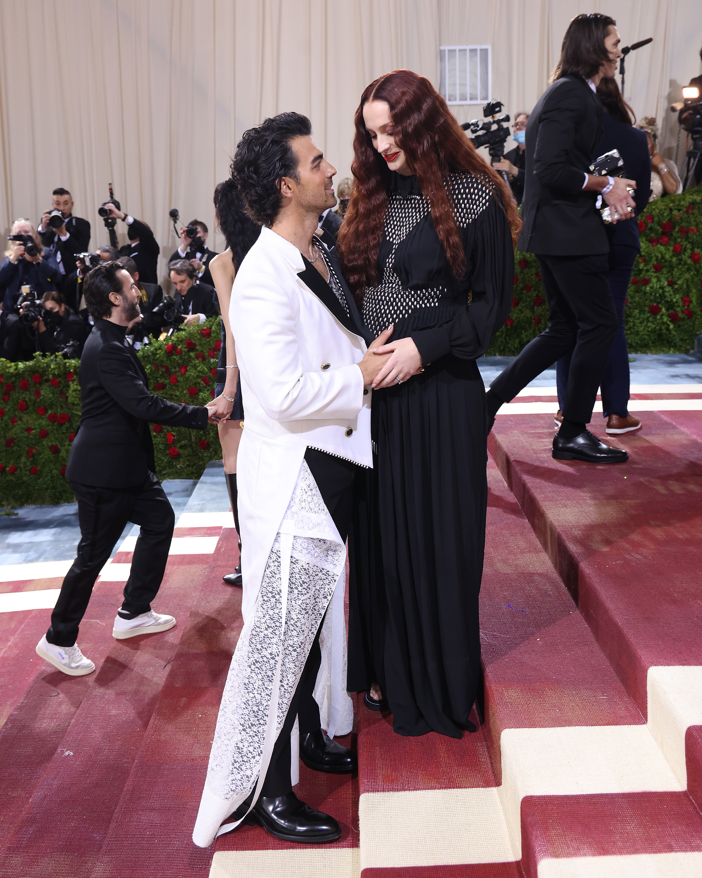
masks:
<svg viewBox="0 0 702 878"><path fill-rule="evenodd" d="M546 291L549 325L526 345L487 392L490 426L498 408L572 352L563 421L553 457L614 464L626 451L598 441L587 429L617 315L607 282L609 242L598 195L612 215L631 217L632 180L588 173L602 139L602 104L595 94L621 57L616 23L609 16L578 15L570 22L554 71L526 125L524 226L518 248L535 253ZM613 221L613 220L612 220ZM634 219L623 219L633 222Z"/></svg>

